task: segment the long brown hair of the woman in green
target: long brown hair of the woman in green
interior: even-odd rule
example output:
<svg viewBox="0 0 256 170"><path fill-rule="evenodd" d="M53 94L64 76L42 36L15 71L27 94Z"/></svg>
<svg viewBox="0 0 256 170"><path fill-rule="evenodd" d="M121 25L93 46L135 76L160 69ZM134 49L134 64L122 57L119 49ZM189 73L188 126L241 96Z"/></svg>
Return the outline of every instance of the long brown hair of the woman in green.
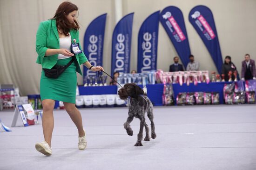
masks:
<svg viewBox="0 0 256 170"><path fill-rule="evenodd" d="M66 15L73 11L78 11L78 7L69 1L64 1L58 7L54 17L52 19L56 19L57 28L61 29L66 36L69 36L68 32L70 29L79 29L78 22L74 20L74 23L69 23L66 18Z"/></svg>

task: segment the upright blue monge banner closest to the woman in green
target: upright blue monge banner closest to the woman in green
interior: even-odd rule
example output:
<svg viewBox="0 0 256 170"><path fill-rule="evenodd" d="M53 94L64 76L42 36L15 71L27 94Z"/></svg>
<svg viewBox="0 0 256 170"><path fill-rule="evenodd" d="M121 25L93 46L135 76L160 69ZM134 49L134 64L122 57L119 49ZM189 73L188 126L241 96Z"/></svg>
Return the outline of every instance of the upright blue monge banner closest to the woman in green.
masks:
<svg viewBox="0 0 256 170"><path fill-rule="evenodd" d="M94 19L84 34L84 54L94 66L102 66L106 17L107 13ZM96 72L90 71L84 66L83 76L96 76Z"/></svg>

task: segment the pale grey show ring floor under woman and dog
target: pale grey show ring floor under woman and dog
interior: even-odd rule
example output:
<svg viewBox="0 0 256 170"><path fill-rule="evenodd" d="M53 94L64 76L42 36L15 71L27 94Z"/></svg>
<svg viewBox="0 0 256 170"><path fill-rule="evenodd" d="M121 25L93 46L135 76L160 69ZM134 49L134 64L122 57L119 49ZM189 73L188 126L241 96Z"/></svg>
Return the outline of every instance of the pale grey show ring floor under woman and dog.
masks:
<svg viewBox="0 0 256 170"><path fill-rule="evenodd" d="M34 149L40 125L0 133L0 170L256 170L256 105L155 107L156 139L135 147L123 128L127 108L81 109L88 147L63 110L54 112L53 155ZM0 112L10 126L12 112ZM146 120L148 122L148 119ZM148 124L150 124L148 122Z"/></svg>

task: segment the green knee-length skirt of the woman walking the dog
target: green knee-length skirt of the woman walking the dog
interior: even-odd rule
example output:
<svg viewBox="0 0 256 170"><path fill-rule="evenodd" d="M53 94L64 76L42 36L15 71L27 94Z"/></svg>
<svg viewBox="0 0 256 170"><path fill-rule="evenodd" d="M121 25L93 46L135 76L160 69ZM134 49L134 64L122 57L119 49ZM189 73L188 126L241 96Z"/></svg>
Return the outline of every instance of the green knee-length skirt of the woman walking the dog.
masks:
<svg viewBox="0 0 256 170"><path fill-rule="evenodd" d="M72 57L57 61L57 65L67 65ZM52 99L67 103L75 103L76 94L76 64L75 61L58 77L48 78L41 72L40 95L41 100Z"/></svg>

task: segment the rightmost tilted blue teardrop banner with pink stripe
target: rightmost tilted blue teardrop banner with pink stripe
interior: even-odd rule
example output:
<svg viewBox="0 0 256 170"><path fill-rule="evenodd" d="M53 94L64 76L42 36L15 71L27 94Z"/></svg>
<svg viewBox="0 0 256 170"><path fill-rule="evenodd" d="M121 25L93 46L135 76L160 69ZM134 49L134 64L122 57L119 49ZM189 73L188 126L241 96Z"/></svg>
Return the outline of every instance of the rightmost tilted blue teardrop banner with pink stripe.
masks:
<svg viewBox="0 0 256 170"><path fill-rule="evenodd" d="M189 22L201 37L219 74L221 74L222 53L211 10L207 6L195 6L189 12Z"/></svg>

